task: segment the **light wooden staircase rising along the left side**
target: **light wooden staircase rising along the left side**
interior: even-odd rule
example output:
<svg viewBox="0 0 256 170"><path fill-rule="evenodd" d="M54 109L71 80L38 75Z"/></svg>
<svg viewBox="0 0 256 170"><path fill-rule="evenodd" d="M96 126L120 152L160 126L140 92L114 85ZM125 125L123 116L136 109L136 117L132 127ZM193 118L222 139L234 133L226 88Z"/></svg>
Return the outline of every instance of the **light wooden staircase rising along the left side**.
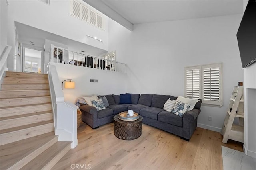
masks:
<svg viewBox="0 0 256 170"><path fill-rule="evenodd" d="M70 150L58 141L47 74L6 72L0 90L0 170L50 169Z"/></svg>

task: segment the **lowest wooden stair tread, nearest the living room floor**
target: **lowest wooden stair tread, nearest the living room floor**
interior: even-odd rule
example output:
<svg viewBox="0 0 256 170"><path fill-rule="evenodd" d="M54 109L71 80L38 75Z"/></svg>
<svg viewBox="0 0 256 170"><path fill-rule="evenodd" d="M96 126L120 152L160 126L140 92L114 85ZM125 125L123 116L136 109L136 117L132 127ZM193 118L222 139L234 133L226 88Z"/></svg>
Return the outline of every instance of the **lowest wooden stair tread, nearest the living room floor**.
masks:
<svg viewBox="0 0 256 170"><path fill-rule="evenodd" d="M56 159L55 162L56 161L58 162L58 160L60 160L60 158L62 158L62 156L64 156L64 154L66 154L66 152L70 149L69 147L70 144L71 142L66 142L66 141L58 141L54 143L54 145L52 145L47 150L42 152L42 154L38 155L36 158L31 160L28 164L23 166L21 169L22 170L42 169L42 168L45 168L47 164L50 164L52 160L54 161L54 158ZM69 149L67 147L69 147ZM52 166L54 166L54 164L55 163L53 163Z"/></svg>

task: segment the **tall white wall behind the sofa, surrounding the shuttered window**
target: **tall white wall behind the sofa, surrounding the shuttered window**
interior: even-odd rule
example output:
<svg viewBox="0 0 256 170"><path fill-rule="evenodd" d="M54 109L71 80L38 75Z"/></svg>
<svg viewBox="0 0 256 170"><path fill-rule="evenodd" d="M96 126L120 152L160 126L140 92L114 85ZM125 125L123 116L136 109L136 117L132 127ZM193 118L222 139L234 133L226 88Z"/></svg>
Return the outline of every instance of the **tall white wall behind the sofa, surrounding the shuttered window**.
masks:
<svg viewBox="0 0 256 170"><path fill-rule="evenodd" d="M236 40L241 18L144 23L132 32L110 20L109 49L116 49L118 60L128 66L127 92L184 96L185 66L223 63L224 106L202 106L198 116L198 126L221 131L233 86L243 80Z"/></svg>

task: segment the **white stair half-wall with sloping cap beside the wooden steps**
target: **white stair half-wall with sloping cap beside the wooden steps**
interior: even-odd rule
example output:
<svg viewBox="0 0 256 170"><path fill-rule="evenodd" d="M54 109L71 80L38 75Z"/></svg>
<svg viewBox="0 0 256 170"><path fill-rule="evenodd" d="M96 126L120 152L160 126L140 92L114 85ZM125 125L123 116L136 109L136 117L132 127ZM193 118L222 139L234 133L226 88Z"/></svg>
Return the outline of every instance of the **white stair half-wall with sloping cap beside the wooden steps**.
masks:
<svg viewBox="0 0 256 170"><path fill-rule="evenodd" d="M74 148L78 143L76 131L78 107L64 101L56 66L49 62L47 67L55 135L58 135L58 141L72 141L71 148Z"/></svg>

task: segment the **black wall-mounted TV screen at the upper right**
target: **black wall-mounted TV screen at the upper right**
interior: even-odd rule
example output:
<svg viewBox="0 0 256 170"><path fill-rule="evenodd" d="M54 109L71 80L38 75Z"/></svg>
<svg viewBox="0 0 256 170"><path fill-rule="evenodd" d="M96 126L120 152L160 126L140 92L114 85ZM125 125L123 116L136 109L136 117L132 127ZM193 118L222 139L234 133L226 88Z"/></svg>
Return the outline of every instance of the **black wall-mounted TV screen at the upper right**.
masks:
<svg viewBox="0 0 256 170"><path fill-rule="evenodd" d="M242 67L256 61L256 0L249 0L236 34Z"/></svg>

